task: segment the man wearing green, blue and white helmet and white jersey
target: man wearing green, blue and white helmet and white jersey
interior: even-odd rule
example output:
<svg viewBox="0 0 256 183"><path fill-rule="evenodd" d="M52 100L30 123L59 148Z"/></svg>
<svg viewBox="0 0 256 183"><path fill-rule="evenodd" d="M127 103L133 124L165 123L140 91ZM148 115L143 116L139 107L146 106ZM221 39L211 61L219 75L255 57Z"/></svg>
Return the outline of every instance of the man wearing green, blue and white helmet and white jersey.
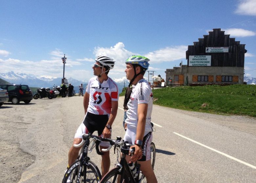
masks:
<svg viewBox="0 0 256 183"><path fill-rule="evenodd" d="M153 94L148 82L143 78L148 69L149 59L142 56L132 56L126 63L126 78L130 80L129 87L133 85L126 112L127 130L124 140L135 147L135 153L128 161L139 161L140 170L145 175L147 182L157 182L151 166L150 144L152 142L151 113L153 107ZM132 148L131 147L131 148Z"/></svg>

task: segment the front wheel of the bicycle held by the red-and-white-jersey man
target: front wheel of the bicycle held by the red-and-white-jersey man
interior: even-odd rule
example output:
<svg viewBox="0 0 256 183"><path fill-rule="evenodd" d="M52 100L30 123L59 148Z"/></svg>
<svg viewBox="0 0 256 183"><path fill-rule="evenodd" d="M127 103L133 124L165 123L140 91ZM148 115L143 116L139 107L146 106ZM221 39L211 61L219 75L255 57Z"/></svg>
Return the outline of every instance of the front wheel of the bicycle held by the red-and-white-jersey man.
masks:
<svg viewBox="0 0 256 183"><path fill-rule="evenodd" d="M99 183L100 179L100 171L91 160L88 160L86 164L81 164L80 160L77 160L66 171L62 183L75 183L77 180L80 183Z"/></svg>

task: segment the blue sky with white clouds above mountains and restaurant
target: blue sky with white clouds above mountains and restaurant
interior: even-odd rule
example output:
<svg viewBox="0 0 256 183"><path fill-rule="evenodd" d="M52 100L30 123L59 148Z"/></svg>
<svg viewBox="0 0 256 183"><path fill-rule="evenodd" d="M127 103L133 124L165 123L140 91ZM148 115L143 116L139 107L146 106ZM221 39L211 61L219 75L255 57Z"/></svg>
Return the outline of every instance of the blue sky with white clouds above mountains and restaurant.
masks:
<svg viewBox="0 0 256 183"><path fill-rule="evenodd" d="M187 63L188 45L213 28L245 49L245 75L256 77L256 0L0 1L0 73L14 71L89 80L96 56L116 60L109 76L125 76L131 55L166 68ZM147 75L145 75L147 77Z"/></svg>

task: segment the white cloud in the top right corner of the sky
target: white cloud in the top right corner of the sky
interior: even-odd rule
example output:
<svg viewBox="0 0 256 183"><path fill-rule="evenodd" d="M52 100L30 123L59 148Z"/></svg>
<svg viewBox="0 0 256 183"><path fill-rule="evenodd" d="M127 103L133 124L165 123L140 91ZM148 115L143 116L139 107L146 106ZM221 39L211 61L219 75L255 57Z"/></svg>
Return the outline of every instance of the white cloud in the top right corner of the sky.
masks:
<svg viewBox="0 0 256 183"><path fill-rule="evenodd" d="M242 15L256 15L256 1L255 0L242 0L238 4L238 7L235 11L238 14Z"/></svg>

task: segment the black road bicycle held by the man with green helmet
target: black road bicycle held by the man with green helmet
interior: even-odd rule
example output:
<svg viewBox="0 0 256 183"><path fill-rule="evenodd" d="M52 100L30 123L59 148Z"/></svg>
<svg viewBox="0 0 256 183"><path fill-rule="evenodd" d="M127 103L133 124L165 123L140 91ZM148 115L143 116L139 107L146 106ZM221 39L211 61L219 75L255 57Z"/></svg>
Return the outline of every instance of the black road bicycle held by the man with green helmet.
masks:
<svg viewBox="0 0 256 183"><path fill-rule="evenodd" d="M142 183L146 182L144 175L139 170L139 163L135 162L134 168L133 165L130 163L128 164L125 157L129 155L130 147L132 144L126 143L126 141L121 141L120 137L117 137L117 140L110 141L111 145L114 145L114 153L119 151L121 154L120 162L117 156L117 163L116 167L110 170L100 181L100 183ZM112 146L107 149L102 149L102 151L110 150ZM130 151L133 154L134 149ZM118 155L118 152L117 152ZM151 143L151 163L152 167L154 168L155 165L155 158L156 158L156 147L155 144ZM131 170L132 169L132 170Z"/></svg>

